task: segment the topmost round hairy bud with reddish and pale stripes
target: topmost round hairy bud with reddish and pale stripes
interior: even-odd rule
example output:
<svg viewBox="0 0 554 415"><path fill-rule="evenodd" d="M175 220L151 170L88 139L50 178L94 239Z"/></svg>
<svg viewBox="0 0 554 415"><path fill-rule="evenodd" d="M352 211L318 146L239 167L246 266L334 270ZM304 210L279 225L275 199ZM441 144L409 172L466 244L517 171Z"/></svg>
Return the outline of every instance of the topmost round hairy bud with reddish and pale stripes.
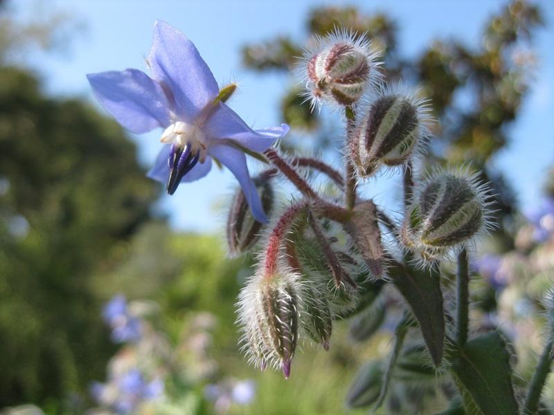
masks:
<svg viewBox="0 0 554 415"><path fill-rule="evenodd" d="M337 32L315 43L305 51L301 66L312 104L328 100L350 106L379 80L377 54L371 52L365 37Z"/></svg>

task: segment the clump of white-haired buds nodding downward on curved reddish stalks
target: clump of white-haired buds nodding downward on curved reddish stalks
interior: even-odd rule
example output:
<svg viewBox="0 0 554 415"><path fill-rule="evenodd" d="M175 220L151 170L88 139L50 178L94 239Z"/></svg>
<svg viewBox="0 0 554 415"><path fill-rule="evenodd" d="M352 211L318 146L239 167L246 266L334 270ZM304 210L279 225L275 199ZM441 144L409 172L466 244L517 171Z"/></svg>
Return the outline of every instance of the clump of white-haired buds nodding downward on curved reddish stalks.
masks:
<svg viewBox="0 0 554 415"><path fill-rule="evenodd" d="M285 210L263 239L262 260L238 302L249 360L280 368L285 377L299 340L329 349L333 321L358 306L357 282L368 279L348 234L316 211L308 201Z"/></svg>

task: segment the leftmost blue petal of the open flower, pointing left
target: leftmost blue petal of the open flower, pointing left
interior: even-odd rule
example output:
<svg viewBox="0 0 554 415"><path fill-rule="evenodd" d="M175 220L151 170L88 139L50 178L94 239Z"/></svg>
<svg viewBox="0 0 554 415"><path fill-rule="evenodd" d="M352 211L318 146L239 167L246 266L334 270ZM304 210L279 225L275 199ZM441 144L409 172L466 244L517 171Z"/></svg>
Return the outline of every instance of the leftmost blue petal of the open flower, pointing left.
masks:
<svg viewBox="0 0 554 415"><path fill-rule="evenodd" d="M89 73L98 101L123 127L145 133L170 124L168 99L158 82L137 69Z"/></svg>

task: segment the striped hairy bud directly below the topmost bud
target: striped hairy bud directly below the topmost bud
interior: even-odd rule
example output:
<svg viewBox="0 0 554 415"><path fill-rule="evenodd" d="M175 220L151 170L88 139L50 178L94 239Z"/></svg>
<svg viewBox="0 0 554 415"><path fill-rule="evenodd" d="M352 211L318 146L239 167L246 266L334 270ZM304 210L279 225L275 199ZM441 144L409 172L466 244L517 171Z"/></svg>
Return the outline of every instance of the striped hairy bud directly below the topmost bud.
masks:
<svg viewBox="0 0 554 415"><path fill-rule="evenodd" d="M359 177L379 167L402 165L427 140L429 116L424 100L384 91L350 131L348 153Z"/></svg>

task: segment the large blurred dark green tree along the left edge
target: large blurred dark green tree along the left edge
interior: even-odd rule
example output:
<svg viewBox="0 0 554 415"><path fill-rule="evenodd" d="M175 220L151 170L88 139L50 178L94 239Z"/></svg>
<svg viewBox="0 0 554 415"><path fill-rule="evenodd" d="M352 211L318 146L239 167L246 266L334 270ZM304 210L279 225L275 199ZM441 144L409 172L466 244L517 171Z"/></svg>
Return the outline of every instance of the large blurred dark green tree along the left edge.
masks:
<svg viewBox="0 0 554 415"><path fill-rule="evenodd" d="M0 68L0 407L103 377L112 347L91 279L156 196L114 121Z"/></svg>

